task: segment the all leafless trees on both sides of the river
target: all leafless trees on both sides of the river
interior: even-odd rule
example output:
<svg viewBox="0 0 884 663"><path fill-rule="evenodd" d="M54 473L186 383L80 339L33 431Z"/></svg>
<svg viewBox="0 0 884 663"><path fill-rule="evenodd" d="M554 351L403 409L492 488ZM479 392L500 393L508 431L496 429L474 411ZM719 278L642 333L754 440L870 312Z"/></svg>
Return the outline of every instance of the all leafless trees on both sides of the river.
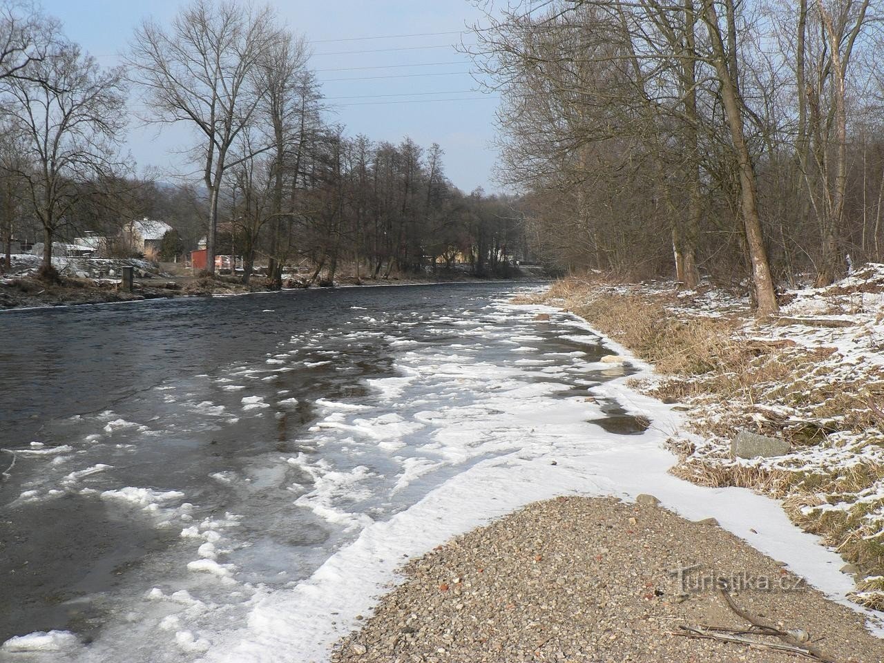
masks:
<svg viewBox="0 0 884 663"><path fill-rule="evenodd" d="M56 21L5 0L0 212L11 238L170 220L174 254L257 260L279 285L309 261L333 280L517 253L560 270L781 283L880 261L882 17L874 0L474 0L462 50L501 96L497 178L464 194L443 150L350 137L331 122L307 38L256 5L194 0L145 20L114 68ZM188 183L136 177L130 122L183 124ZM7 258L8 262L8 258Z"/></svg>

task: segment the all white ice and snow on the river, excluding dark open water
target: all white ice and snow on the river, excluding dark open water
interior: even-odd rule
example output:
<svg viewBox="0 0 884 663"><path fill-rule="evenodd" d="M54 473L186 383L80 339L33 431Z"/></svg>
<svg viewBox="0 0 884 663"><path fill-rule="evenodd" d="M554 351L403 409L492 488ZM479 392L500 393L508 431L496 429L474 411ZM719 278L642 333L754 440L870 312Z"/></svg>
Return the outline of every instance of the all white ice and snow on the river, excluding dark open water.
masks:
<svg viewBox="0 0 884 663"><path fill-rule="evenodd" d="M66 446L19 452L43 463L19 504L100 500L175 543L117 591L90 644L78 633L22 633L0 657L322 661L396 581L406 557L560 494L648 492L686 517L715 517L846 603L853 583L838 571L842 560L792 525L776 501L667 474L675 459L663 445L682 415L625 384L650 367L559 309L506 297L475 302L410 316L354 309L358 330L294 335L261 362L141 393L141 410L129 418L113 410L77 417L65 424L76 433ZM264 431L268 421L285 428L303 407L282 385L286 374L346 373L341 352L372 343L386 348L386 369L352 392L317 398L294 447L228 467L220 440L202 471L228 499L209 513L205 491L175 468L163 484L129 481L126 454L151 438L178 436L187 446L180 431L202 427L240 431L248 444L248 431ZM601 362L606 354L624 362ZM606 413L618 406L650 418L650 427L607 431ZM881 616L868 615L870 625Z"/></svg>

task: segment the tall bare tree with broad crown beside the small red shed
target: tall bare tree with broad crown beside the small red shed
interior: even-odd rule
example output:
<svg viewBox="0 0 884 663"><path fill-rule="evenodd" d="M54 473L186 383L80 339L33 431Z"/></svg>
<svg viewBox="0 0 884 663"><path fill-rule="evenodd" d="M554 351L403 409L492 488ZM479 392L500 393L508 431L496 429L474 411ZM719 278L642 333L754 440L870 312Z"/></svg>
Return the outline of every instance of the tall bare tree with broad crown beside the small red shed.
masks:
<svg viewBox="0 0 884 663"><path fill-rule="evenodd" d="M278 38L274 20L270 7L194 0L169 29L147 19L135 31L129 64L151 110L146 119L188 124L202 139L193 155L209 194L210 272L215 270L218 194L225 171L237 164L228 159L231 146L262 99L254 74Z"/></svg>

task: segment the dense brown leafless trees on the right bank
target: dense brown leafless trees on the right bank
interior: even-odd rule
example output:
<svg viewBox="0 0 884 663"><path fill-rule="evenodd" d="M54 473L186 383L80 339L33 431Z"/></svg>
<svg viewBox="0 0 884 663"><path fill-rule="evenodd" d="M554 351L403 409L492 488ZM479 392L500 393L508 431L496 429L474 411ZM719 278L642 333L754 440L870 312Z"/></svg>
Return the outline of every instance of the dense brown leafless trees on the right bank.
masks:
<svg viewBox="0 0 884 663"><path fill-rule="evenodd" d="M884 258L880 9L511 2L467 49L503 97L500 179L551 261L745 279L773 312L777 283Z"/></svg>

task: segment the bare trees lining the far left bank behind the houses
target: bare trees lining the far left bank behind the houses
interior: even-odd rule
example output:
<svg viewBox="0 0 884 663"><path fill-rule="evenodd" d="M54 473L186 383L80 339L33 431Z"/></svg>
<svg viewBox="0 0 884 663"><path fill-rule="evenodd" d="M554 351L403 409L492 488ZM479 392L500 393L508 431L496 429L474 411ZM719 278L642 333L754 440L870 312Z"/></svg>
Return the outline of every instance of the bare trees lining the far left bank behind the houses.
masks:
<svg viewBox="0 0 884 663"><path fill-rule="evenodd" d="M199 181L136 177L130 95L139 121L191 130ZM527 254L514 199L463 194L437 144L349 137L326 110L307 42L269 7L194 0L168 26L142 21L103 68L33 5L0 0L0 241L8 256L14 234L39 232L52 276L53 241L155 217L178 235L167 258L205 238L208 271L235 251L244 280L260 262L275 287L293 264L312 281L343 263L361 278L459 261L484 275Z"/></svg>

